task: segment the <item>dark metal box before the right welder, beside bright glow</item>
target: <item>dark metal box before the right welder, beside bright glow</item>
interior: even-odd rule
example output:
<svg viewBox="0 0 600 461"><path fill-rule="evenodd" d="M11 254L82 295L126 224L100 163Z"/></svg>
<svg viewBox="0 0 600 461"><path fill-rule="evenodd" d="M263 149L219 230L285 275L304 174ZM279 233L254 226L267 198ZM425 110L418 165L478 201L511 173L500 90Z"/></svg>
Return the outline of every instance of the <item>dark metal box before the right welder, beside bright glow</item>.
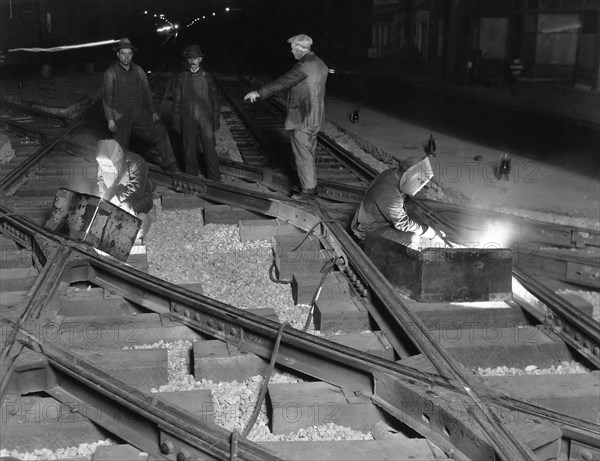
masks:
<svg viewBox="0 0 600 461"><path fill-rule="evenodd" d="M367 233L365 253L402 294L420 302L508 301L512 250L427 248L413 250Z"/></svg>

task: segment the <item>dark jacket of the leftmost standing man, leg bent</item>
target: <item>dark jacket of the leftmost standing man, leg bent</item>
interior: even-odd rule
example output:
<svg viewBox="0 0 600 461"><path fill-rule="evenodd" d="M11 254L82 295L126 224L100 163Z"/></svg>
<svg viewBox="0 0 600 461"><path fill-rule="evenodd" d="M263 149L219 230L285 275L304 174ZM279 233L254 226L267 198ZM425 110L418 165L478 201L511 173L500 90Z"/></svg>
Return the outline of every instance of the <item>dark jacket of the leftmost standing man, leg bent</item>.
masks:
<svg viewBox="0 0 600 461"><path fill-rule="evenodd" d="M110 66L104 73L102 105L106 120L118 121L125 114L156 112L144 69L133 62L129 70L119 62Z"/></svg>

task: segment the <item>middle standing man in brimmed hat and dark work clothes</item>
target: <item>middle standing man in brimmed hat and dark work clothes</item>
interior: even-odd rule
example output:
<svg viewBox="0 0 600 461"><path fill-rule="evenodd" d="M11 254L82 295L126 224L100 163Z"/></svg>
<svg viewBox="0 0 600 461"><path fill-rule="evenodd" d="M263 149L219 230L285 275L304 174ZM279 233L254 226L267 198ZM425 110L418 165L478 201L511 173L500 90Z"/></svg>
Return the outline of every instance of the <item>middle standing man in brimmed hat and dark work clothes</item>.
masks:
<svg viewBox="0 0 600 461"><path fill-rule="evenodd" d="M212 75L200 65L204 56L200 46L188 46L184 56L189 67L175 81L173 129L182 136L185 172L197 176L200 163L208 179L220 181L215 148L215 131L221 118L220 95Z"/></svg>

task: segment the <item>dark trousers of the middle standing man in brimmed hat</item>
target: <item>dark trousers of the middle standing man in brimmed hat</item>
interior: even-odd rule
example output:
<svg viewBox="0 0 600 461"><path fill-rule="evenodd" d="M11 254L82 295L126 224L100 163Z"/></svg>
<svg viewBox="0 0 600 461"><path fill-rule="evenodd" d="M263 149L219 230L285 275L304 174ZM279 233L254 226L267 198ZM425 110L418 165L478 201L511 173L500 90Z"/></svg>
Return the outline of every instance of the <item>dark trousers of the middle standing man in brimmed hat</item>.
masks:
<svg viewBox="0 0 600 461"><path fill-rule="evenodd" d="M215 132L212 124L200 124L192 118L181 121L181 137L185 152L185 172L197 176L200 164L205 168L206 177L212 181L221 180L219 157L216 150Z"/></svg>

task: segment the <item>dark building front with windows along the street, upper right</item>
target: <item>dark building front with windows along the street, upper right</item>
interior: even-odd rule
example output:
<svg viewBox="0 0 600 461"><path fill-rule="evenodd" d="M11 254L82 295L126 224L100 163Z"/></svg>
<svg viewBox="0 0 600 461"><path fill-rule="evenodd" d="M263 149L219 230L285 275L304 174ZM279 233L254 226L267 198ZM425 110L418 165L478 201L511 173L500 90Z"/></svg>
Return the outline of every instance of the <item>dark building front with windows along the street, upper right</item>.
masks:
<svg viewBox="0 0 600 461"><path fill-rule="evenodd" d="M598 90L600 1L373 0L369 57L452 81L516 72Z"/></svg>

